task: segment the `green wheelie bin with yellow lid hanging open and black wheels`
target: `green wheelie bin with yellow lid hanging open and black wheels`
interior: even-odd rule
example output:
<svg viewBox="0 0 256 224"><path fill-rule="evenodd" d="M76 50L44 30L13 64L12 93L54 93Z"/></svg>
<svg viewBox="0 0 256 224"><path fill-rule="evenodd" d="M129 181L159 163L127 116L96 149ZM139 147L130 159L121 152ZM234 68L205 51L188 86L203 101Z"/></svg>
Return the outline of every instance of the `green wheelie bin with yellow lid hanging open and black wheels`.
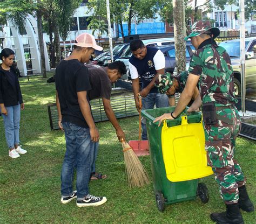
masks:
<svg viewBox="0 0 256 224"><path fill-rule="evenodd" d="M212 174L207 166L202 115L187 114L186 109L175 120L164 121L160 127L156 117L171 113L175 107L142 110L146 118L154 192L159 211L165 205L196 199L208 202L205 184L199 178Z"/></svg>

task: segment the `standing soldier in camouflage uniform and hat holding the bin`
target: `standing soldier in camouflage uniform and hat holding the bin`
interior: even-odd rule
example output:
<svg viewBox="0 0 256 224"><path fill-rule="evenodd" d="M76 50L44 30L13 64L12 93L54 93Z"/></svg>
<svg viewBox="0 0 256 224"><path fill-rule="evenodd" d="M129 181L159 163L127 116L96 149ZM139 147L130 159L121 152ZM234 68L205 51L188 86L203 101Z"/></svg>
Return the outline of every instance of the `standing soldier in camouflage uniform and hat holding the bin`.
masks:
<svg viewBox="0 0 256 224"><path fill-rule="evenodd" d="M176 109L171 114L156 118L175 119L190 102L194 88L199 81L200 96L188 111L198 109L203 103L205 149L207 161L219 184L220 194L226 204L226 212L212 213L211 219L217 223L244 223L240 209L253 212L254 206L245 188L245 177L238 162L233 158L235 138L240 130L240 117L235 108L233 70L231 60L223 47L214 38L220 31L211 27L208 20L199 20L191 27L191 39L196 47L190 61L190 73Z"/></svg>

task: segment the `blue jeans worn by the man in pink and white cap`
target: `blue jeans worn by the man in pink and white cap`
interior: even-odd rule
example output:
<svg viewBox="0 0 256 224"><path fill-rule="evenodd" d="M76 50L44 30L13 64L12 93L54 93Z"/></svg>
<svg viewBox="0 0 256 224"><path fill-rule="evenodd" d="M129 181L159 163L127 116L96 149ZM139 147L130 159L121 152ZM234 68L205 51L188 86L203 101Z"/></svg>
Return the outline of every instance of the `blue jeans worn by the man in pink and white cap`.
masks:
<svg viewBox="0 0 256 224"><path fill-rule="evenodd" d="M66 153L61 173L62 197L69 197L73 193L72 180L74 170L77 170L77 200L83 200L89 195L89 181L95 149L91 141L90 129L63 122L66 139Z"/></svg>

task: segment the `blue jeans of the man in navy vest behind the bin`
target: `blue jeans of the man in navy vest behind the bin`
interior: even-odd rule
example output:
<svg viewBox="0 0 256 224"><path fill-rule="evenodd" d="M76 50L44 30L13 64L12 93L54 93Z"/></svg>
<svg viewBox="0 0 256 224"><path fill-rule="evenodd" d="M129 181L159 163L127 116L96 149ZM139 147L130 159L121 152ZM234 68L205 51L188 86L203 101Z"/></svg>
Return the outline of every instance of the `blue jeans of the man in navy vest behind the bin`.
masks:
<svg viewBox="0 0 256 224"><path fill-rule="evenodd" d="M142 98L142 109L153 109L154 104L157 108L160 107L169 107L169 100L166 94L160 93L149 93L146 97ZM142 118L142 140L147 140L147 128L146 128L146 119Z"/></svg>

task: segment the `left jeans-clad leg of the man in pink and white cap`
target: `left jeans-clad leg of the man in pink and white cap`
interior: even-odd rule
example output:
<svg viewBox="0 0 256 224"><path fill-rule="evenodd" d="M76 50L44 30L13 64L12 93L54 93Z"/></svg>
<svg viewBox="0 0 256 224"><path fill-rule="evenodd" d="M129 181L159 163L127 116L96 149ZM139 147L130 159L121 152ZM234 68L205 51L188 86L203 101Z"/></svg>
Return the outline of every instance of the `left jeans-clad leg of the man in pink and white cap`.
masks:
<svg viewBox="0 0 256 224"><path fill-rule="evenodd" d="M62 165L61 173L61 193L62 197L69 197L73 193L72 189L72 177L76 165L77 148L76 148L76 136L70 128L70 123L64 122L63 128L65 131L66 139L66 153Z"/></svg>

